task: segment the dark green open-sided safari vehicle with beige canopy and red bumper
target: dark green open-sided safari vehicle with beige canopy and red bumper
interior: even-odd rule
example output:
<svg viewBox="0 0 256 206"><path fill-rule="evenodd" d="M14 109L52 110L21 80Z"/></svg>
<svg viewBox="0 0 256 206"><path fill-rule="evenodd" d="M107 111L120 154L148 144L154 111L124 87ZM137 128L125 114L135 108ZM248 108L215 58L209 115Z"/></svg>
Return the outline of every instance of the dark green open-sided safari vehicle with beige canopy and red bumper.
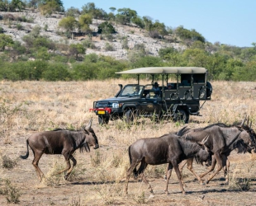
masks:
<svg viewBox="0 0 256 206"><path fill-rule="evenodd" d="M119 74L136 74L137 83L127 84L125 87L119 85L120 91L116 96L93 102L90 110L98 116L99 124L108 124L109 120L115 119L130 122L135 117L167 118L187 123L190 115L200 115L201 106L211 100L212 87L206 80L206 68L135 68ZM151 76L152 82L140 84L142 75ZM160 91L153 89L157 78L161 80ZM172 88L168 87L169 84ZM200 101L204 101L201 106Z"/></svg>

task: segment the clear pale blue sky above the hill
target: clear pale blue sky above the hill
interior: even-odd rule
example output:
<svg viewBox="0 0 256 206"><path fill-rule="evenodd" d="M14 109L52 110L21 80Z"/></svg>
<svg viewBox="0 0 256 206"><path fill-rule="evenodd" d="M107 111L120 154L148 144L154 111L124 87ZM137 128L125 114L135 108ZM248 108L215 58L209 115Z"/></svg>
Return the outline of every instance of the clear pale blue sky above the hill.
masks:
<svg viewBox="0 0 256 206"><path fill-rule="evenodd" d="M88 2L111 12L110 7L130 8L165 26L195 29L207 41L239 47L256 42L256 0L63 0L64 8L81 9Z"/></svg>

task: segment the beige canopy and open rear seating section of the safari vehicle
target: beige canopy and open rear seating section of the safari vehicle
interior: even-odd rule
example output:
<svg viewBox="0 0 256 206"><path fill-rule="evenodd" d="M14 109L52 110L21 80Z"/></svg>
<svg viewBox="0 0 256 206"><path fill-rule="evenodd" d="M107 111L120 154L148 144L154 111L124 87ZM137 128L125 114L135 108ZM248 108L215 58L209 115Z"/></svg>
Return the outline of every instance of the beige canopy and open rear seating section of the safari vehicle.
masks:
<svg viewBox="0 0 256 206"><path fill-rule="evenodd" d="M162 82L159 84L161 98L168 100L211 100L211 84L206 81L206 68L198 67L149 67L135 68L119 74L136 74L140 85L140 74L150 74L152 86L154 77L161 75ZM175 76L175 82L168 82L170 76ZM170 87L169 87L170 86Z"/></svg>

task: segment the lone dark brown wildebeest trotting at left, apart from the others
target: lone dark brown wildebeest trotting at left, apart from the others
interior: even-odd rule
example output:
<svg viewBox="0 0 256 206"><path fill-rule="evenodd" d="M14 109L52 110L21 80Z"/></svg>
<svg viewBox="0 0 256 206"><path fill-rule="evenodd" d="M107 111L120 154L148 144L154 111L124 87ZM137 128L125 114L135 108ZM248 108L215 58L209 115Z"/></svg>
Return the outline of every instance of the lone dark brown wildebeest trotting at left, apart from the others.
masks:
<svg viewBox="0 0 256 206"><path fill-rule="evenodd" d="M21 156L22 159L26 159L29 156L29 148L34 153L34 159L32 165L35 166L36 174L40 181L44 177L44 173L40 170L38 162L40 157L45 154L62 154L66 161L66 168L59 171L58 174L67 171L64 176L67 180L69 174L73 170L73 166L76 165L77 161L73 157L73 152L78 148L80 152L84 150L90 152L90 147L97 149L99 147L97 142L97 136L92 129L92 119L90 120L87 127L83 127L79 131L70 131L65 129L55 129L53 131L45 131L40 133L34 133L31 137L26 139L26 155ZM71 166L69 160L73 162Z"/></svg>

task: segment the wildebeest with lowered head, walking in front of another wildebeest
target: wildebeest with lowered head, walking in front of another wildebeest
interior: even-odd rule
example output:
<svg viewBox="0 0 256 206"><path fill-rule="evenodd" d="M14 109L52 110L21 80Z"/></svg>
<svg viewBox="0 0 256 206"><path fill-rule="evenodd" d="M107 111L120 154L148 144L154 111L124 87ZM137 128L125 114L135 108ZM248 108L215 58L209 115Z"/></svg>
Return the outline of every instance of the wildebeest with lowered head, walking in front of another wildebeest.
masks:
<svg viewBox="0 0 256 206"><path fill-rule="evenodd" d="M201 146L199 146L199 143L192 143L184 140L174 133L165 134L160 138L142 138L137 140L135 143L131 144L128 149L130 168L127 171L125 192L127 193L128 181L133 171L134 173L138 173L138 175L141 174L142 180L145 182L145 184L149 185L149 189L153 193L151 185L144 176L145 168L148 166L148 164L160 165L168 163L168 178L165 191L168 193L168 180L174 167L180 183L180 189L182 190L183 194L185 194L178 164L184 159L190 157L195 157L200 162L207 161L211 153L202 147L206 141L206 138L201 141ZM139 164L139 170L136 171L136 166Z"/></svg>

